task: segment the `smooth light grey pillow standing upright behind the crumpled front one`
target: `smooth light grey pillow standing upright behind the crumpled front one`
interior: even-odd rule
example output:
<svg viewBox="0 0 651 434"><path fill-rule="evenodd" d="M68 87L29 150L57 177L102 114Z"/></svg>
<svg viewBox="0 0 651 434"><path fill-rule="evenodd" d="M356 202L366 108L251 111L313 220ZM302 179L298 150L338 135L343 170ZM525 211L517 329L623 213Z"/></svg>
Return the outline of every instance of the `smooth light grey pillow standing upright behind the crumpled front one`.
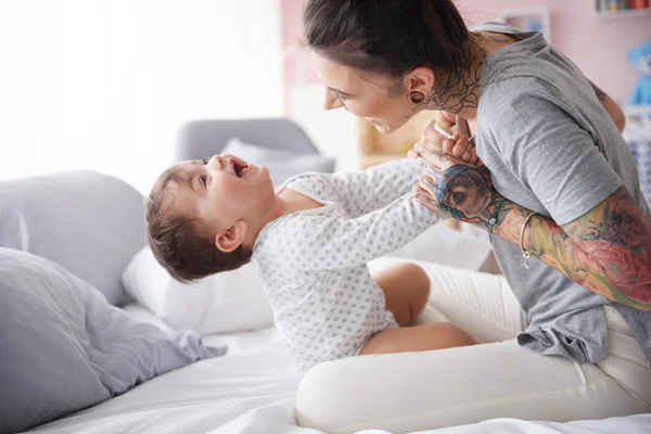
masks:
<svg viewBox="0 0 651 434"><path fill-rule="evenodd" d="M119 179L74 170L0 182L0 247L63 266L111 304L131 299L122 273L143 246L142 196Z"/></svg>

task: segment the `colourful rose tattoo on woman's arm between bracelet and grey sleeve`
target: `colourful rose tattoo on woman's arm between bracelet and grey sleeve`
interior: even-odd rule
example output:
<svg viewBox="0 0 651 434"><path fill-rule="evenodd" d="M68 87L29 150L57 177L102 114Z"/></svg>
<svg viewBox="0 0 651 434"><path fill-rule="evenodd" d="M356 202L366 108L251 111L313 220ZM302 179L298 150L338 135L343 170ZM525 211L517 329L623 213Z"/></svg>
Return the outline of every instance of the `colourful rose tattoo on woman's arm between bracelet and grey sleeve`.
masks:
<svg viewBox="0 0 651 434"><path fill-rule="evenodd" d="M537 220L528 238L534 253L560 261L580 285L651 310L651 224L625 188L562 228Z"/></svg>

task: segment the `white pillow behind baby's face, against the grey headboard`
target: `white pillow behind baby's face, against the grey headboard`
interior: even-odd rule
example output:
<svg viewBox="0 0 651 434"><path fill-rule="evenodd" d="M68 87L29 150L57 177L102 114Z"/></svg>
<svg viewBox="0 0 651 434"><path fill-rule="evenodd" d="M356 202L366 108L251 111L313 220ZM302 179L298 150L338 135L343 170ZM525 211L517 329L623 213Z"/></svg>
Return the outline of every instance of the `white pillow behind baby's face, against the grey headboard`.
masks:
<svg viewBox="0 0 651 434"><path fill-rule="evenodd" d="M281 186L293 176L306 171L329 174L334 170L335 159L319 154L298 154L296 152L242 142L234 137L228 141L225 154L232 154L247 163L260 164L269 168L273 186Z"/></svg>

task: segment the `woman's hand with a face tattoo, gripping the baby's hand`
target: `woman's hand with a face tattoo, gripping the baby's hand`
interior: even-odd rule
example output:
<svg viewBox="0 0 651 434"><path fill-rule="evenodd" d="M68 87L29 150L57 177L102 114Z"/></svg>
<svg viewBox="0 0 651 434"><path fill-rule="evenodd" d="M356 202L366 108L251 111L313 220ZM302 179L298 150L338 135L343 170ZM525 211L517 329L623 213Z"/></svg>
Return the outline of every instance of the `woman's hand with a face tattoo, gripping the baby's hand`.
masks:
<svg viewBox="0 0 651 434"><path fill-rule="evenodd" d="M434 213L467 222L487 222L503 201L486 166L471 166L441 152L432 152L426 161L414 194Z"/></svg>

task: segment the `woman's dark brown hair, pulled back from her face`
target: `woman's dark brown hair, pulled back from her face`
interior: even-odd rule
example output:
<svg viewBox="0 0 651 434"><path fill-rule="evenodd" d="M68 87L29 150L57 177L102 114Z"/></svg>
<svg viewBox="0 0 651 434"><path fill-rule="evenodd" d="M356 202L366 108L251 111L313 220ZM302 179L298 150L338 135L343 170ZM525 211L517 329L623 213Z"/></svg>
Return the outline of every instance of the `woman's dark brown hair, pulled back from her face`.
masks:
<svg viewBox="0 0 651 434"><path fill-rule="evenodd" d="M470 33L451 0L308 0L304 24L315 52L363 72L401 78L426 66L450 87L470 65Z"/></svg>

